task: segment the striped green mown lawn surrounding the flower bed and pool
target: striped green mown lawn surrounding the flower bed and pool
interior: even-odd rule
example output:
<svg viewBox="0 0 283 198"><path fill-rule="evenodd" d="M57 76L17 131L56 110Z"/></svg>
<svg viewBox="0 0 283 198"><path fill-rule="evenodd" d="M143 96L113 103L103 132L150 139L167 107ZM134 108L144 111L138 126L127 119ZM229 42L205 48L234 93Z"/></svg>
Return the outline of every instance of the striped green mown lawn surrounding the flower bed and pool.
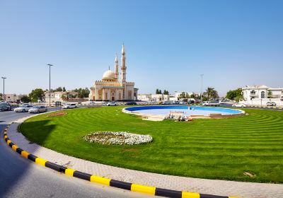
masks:
<svg viewBox="0 0 283 198"><path fill-rule="evenodd" d="M238 118L151 122L121 110L96 107L57 117L39 115L20 130L37 144L98 163L168 175L283 183L283 111L245 109L249 115ZM84 135L98 131L151 134L154 141L136 146L83 141Z"/></svg>

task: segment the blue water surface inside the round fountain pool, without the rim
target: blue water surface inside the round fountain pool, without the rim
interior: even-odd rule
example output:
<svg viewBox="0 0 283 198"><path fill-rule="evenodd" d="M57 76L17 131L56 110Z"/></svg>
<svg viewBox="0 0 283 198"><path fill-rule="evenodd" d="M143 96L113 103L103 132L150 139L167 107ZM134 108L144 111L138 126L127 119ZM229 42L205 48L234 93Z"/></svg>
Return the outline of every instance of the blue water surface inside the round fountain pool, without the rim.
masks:
<svg viewBox="0 0 283 198"><path fill-rule="evenodd" d="M141 106L127 107L125 110L152 115L168 115L170 111L184 112L185 115L204 115L212 113L221 113L222 115L231 115L241 113L241 110L224 109L216 107L200 106Z"/></svg>

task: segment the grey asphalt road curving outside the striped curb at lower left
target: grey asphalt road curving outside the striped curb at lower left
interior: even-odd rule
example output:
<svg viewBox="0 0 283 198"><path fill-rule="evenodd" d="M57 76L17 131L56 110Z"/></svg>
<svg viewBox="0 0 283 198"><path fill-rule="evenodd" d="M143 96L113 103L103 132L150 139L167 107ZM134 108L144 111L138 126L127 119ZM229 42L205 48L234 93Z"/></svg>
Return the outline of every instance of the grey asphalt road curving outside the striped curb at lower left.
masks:
<svg viewBox="0 0 283 198"><path fill-rule="evenodd" d="M0 112L0 197L152 197L69 177L22 158L5 143L3 131L8 122L28 115Z"/></svg>

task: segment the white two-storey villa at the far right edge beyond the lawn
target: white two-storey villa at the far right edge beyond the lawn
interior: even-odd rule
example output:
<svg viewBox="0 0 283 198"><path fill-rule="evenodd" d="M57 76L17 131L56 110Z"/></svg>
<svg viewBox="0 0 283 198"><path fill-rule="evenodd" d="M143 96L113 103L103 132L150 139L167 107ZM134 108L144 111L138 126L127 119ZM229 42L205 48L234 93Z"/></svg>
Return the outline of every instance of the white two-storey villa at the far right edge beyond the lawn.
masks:
<svg viewBox="0 0 283 198"><path fill-rule="evenodd" d="M246 86L242 88L243 100L240 103L246 105L266 105L267 102L275 102L277 106L283 105L283 88L270 88L262 86Z"/></svg>

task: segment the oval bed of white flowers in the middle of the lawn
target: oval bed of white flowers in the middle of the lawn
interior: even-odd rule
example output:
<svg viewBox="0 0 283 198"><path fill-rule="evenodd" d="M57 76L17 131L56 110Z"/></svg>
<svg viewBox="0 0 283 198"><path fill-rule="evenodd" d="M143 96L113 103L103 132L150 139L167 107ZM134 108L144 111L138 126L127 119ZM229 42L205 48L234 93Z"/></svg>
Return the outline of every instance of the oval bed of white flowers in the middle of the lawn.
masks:
<svg viewBox="0 0 283 198"><path fill-rule="evenodd" d="M152 136L132 134L129 132L93 132L83 136L83 139L89 142L99 144L118 144L118 145L134 145L145 144L151 142Z"/></svg>

